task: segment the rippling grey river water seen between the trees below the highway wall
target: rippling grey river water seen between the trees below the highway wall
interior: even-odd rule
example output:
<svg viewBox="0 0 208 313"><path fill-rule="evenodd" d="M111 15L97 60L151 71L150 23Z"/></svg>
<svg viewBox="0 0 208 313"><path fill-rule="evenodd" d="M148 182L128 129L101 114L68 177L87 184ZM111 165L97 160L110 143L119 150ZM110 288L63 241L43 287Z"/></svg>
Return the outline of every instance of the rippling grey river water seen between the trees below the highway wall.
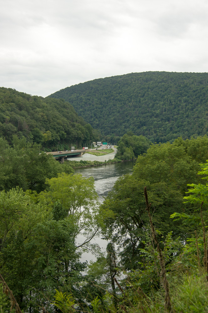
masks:
<svg viewBox="0 0 208 313"><path fill-rule="evenodd" d="M93 177L94 185L96 192L98 193L99 202L102 203L104 201L104 197L107 196L108 192L114 186L114 183L118 179L118 177L131 173L134 166L134 161L113 163L113 164L104 164L93 167L81 167L74 169L75 173L82 174L83 177ZM81 237L78 237L78 240ZM82 240L81 240L82 241ZM96 237L92 240L92 243L99 244L101 250L104 252L108 242L99 237ZM91 254L90 252L84 252L80 259L82 262L96 260L96 256Z"/></svg>

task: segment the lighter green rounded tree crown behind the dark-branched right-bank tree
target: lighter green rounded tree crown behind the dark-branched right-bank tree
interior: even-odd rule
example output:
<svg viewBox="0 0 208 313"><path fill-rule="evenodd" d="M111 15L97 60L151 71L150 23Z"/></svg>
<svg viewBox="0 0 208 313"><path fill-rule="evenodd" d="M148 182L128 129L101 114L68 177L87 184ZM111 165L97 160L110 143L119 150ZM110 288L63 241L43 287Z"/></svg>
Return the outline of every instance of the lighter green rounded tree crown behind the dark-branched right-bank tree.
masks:
<svg viewBox="0 0 208 313"><path fill-rule="evenodd" d="M183 146L168 142L153 145L145 156L138 156L133 175L141 179L145 178L151 183L173 184L184 193L188 182L197 182L198 170L198 162L186 154Z"/></svg>

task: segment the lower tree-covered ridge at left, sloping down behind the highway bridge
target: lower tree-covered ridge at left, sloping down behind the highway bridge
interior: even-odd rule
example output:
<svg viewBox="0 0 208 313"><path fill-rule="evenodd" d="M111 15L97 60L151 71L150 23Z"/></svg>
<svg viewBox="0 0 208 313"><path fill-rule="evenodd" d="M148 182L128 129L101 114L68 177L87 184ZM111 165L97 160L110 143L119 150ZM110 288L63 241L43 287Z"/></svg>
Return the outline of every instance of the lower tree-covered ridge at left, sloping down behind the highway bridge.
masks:
<svg viewBox="0 0 208 313"><path fill-rule="evenodd" d="M29 142L57 149L58 144L82 146L99 139L98 132L63 99L44 99L0 88L0 108L0 137L9 143L13 135L18 135Z"/></svg>

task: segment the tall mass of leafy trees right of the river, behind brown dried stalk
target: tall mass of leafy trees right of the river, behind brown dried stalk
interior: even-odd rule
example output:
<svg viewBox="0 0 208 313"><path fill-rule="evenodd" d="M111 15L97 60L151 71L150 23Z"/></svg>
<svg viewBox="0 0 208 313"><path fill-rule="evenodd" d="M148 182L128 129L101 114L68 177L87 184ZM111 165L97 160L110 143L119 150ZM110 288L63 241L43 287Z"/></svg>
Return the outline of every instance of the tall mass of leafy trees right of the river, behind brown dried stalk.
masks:
<svg viewBox="0 0 208 313"><path fill-rule="evenodd" d="M203 146L205 140L207 142L206 137L197 140L198 146ZM200 166L194 160L192 149L188 149L196 140L186 141L187 149L181 141L150 146L147 153L138 156L132 175L120 177L101 205L104 237L118 245L121 263L126 269L137 268L138 261L145 262L140 253L146 232L150 232L143 194L145 186L154 225L161 238L172 231L174 238L185 239L192 232L190 224L170 219L171 214L190 216L197 208L196 203L186 206L182 203L188 191L187 183L199 182L196 173ZM110 217L109 212L112 212Z"/></svg>

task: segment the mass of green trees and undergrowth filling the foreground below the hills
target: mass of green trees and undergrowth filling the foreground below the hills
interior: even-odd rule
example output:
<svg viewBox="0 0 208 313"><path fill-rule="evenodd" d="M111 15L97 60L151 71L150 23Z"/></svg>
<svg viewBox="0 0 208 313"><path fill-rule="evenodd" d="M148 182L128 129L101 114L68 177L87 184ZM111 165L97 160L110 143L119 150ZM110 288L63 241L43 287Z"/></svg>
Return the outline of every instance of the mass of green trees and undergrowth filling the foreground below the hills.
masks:
<svg viewBox="0 0 208 313"><path fill-rule="evenodd" d="M123 156L149 144L130 132L122 143ZM92 177L37 143L0 144L0 273L23 312L168 313L162 279L172 312L207 311L207 136L150 145L100 205ZM95 235L108 240L105 254ZM80 261L86 250L95 262ZM10 305L0 290L2 313Z"/></svg>

